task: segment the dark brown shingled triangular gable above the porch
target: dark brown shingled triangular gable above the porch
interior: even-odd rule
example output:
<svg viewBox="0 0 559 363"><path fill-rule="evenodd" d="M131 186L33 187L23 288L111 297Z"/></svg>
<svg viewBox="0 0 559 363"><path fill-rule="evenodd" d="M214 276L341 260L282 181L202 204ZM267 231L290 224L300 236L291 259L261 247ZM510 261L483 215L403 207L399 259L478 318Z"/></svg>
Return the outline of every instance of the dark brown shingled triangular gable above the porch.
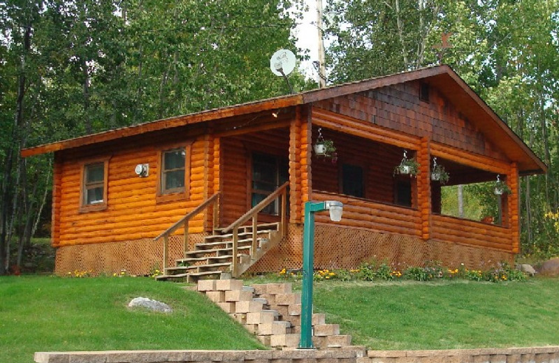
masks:
<svg viewBox="0 0 559 363"><path fill-rule="evenodd" d="M444 95L430 89L429 102L419 100L419 81L395 84L314 103L345 116L481 155L504 159Z"/></svg>

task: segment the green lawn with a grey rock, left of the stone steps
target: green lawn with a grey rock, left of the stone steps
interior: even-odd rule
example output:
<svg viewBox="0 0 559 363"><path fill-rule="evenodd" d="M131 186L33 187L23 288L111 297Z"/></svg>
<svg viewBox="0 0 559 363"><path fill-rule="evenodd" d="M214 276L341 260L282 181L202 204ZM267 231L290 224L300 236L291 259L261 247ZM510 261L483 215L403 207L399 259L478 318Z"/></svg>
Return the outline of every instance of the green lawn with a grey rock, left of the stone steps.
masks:
<svg viewBox="0 0 559 363"><path fill-rule="evenodd" d="M173 313L126 307L134 297ZM2 362L31 363L36 351L263 349L198 292L148 278L0 277Z"/></svg>

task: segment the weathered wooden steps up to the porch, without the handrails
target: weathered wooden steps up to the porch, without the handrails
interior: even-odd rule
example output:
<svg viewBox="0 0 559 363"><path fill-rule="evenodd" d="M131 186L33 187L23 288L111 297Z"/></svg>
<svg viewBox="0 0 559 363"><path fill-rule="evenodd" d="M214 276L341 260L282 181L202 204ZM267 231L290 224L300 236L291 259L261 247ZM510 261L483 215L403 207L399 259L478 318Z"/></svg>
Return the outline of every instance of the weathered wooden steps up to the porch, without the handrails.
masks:
<svg viewBox="0 0 559 363"><path fill-rule="evenodd" d="M157 280L196 282L199 279L219 279L223 272L232 273L233 233L217 229L214 235L205 237L194 250L187 251L184 258L175 260L175 267L168 267ZM253 246L253 226L243 225L238 229L237 274L242 274L254 265L264 253L282 239L279 223L256 225L256 251Z"/></svg>

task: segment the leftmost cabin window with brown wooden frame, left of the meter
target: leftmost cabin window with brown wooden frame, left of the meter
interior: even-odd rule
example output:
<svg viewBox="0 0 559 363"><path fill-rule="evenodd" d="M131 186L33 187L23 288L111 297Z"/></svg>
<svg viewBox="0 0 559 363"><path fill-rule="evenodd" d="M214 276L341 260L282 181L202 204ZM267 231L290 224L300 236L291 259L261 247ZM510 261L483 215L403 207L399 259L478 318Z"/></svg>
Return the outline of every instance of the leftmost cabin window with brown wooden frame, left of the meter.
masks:
<svg viewBox="0 0 559 363"><path fill-rule="evenodd" d="M84 163L81 170L80 212L107 208L108 160Z"/></svg>

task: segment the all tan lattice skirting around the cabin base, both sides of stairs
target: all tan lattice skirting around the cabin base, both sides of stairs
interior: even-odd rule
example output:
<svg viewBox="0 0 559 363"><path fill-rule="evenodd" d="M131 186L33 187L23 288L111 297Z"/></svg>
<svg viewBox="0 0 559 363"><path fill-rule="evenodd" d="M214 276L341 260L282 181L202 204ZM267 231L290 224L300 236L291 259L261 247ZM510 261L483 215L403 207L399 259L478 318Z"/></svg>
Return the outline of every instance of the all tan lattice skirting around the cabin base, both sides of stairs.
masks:
<svg viewBox="0 0 559 363"><path fill-rule="evenodd" d="M207 234L191 234L190 248ZM277 272L282 268L300 269L303 260L303 225L290 224L287 237L254 264L248 272ZM169 266L182 258L182 235L169 239ZM386 260L394 268L421 266L440 261L446 267L464 264L469 269L488 269L498 262L513 262L514 254L496 249L451 242L393 235L335 225L315 226L314 267L318 269L354 268L364 260ZM56 274L88 271L91 274L150 274L161 269L163 242L152 239L63 246L57 249Z"/></svg>

